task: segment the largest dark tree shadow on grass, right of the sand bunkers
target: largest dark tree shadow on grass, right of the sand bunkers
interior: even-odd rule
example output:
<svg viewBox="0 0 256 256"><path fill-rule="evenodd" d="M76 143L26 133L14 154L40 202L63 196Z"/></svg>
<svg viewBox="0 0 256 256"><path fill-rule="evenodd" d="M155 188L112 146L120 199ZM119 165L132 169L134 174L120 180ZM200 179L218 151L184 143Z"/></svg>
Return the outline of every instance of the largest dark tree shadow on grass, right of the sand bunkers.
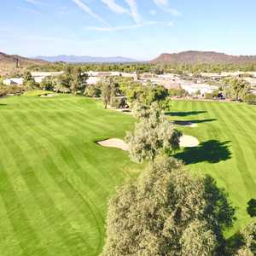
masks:
<svg viewBox="0 0 256 256"><path fill-rule="evenodd" d="M178 160L183 160L185 165L200 162L218 163L230 159L229 144L230 141L221 143L216 140L210 140L201 143L195 148L184 148L183 152L174 154L173 156Z"/></svg>

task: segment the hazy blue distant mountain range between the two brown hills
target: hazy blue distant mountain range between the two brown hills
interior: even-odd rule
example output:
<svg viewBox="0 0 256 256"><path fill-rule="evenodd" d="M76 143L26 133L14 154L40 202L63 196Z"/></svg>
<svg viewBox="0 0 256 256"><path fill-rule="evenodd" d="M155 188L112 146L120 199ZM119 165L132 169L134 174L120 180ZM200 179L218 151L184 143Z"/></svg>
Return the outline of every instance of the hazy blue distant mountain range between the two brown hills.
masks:
<svg viewBox="0 0 256 256"><path fill-rule="evenodd" d="M57 56L38 56L37 59L44 61L56 62L63 61L67 63L125 63L137 62L136 60L124 57L92 57L78 55L57 55Z"/></svg>

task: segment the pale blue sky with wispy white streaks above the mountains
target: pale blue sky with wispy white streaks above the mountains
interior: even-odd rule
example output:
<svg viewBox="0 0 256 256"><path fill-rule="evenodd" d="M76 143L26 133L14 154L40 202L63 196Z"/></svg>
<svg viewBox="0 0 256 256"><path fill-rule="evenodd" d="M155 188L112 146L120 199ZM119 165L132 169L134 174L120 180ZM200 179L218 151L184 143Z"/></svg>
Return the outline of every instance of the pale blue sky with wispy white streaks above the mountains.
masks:
<svg viewBox="0 0 256 256"><path fill-rule="evenodd" d="M1 0L0 51L149 60L163 52L256 55L255 0Z"/></svg>

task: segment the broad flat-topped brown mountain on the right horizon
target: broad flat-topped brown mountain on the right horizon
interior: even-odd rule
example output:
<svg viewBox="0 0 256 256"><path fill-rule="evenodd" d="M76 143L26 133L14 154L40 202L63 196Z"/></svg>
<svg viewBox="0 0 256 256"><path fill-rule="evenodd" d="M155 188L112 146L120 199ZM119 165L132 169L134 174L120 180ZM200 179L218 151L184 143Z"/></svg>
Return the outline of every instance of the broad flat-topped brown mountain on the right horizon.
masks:
<svg viewBox="0 0 256 256"><path fill-rule="evenodd" d="M151 63L165 64L245 64L256 63L256 55L225 55L214 51L183 51L177 54L162 54Z"/></svg>

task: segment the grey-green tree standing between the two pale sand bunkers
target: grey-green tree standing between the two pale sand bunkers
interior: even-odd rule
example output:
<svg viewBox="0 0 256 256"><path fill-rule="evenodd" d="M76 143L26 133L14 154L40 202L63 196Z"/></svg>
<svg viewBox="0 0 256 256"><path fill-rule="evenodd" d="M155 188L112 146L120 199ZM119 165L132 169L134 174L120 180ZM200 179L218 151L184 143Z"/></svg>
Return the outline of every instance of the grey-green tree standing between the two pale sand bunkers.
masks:
<svg viewBox="0 0 256 256"><path fill-rule="evenodd" d="M134 113L138 122L134 131L127 132L125 137L132 160L154 160L157 154L170 154L179 148L182 133L166 119L156 102L150 108L137 105Z"/></svg>

